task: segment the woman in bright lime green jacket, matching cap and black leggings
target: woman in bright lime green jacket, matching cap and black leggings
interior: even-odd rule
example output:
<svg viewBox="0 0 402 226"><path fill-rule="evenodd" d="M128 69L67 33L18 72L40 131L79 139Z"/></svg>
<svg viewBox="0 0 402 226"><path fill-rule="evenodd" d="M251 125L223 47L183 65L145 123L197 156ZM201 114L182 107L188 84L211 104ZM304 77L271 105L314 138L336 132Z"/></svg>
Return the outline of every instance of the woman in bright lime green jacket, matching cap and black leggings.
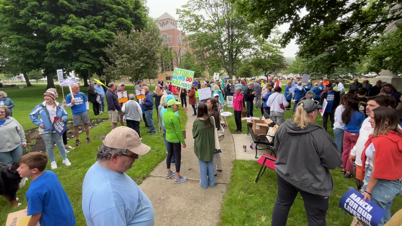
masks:
<svg viewBox="0 0 402 226"><path fill-rule="evenodd" d="M178 110L178 105L181 103L176 100L168 101L166 112L163 114L163 123L166 129L166 140L168 141L168 157L166 158L166 179L176 175L174 183L181 183L187 181L187 177L180 176L180 160L181 160L181 144L186 148L183 132L180 127L180 118L174 113ZM181 142L181 144L180 144ZM170 171L170 161L172 156L176 156L176 171Z"/></svg>

